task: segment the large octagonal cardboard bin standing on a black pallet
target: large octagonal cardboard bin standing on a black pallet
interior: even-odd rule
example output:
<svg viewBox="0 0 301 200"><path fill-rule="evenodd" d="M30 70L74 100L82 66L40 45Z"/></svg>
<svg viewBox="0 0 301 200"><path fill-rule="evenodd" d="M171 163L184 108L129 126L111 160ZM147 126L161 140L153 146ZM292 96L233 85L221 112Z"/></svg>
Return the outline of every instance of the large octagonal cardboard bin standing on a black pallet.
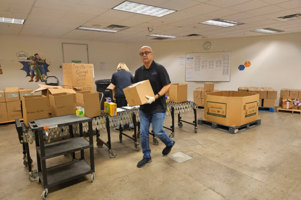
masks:
<svg viewBox="0 0 301 200"><path fill-rule="evenodd" d="M222 96L222 91L205 94L205 120L239 126L258 119L259 94L245 91L231 93L232 96Z"/></svg>

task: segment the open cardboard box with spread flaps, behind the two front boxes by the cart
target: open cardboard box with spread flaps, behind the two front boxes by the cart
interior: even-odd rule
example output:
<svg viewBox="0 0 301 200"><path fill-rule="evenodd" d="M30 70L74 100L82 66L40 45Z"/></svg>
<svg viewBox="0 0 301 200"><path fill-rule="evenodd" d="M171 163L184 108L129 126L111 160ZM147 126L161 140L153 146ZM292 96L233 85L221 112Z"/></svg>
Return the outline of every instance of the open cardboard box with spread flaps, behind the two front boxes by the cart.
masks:
<svg viewBox="0 0 301 200"><path fill-rule="evenodd" d="M63 88L59 85L46 85L46 84L39 84L40 88L33 91L33 93L41 91L41 94L44 96L47 96L48 98L48 113L51 113L50 108L50 101L49 101L49 95L55 94L55 93L62 93L62 92L68 92L73 94L73 103L76 102L76 91L74 91L72 88Z"/></svg>

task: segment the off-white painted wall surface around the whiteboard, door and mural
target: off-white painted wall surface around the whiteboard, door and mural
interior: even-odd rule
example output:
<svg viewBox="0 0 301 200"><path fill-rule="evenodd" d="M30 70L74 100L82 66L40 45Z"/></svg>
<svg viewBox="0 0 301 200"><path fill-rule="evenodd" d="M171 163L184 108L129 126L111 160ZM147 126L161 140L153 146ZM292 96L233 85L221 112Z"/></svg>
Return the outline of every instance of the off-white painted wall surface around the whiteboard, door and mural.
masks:
<svg viewBox="0 0 301 200"><path fill-rule="evenodd" d="M164 65L171 77L172 83L185 83L185 67L179 66L179 56L186 52L207 52L203 43L211 41L213 47L209 52L231 51L230 82L215 82L219 90L237 90L239 86L272 87L301 89L301 33L263 35L254 37L206 39L190 41L165 41L145 43L109 43L84 40L66 40L54 38L37 38L23 36L0 35L0 64L4 74L0 74L0 88L9 86L38 88L36 82L28 82L25 72L20 70L22 64L18 62L17 52L25 51L29 54L39 53L52 62L52 69L48 75L60 78L62 65L62 42L87 43L89 47L89 61L94 64L95 80L111 78L119 62L125 62L134 73L142 64L138 55L142 45L153 48L154 59ZM99 62L106 62L106 70L100 71ZM238 70L238 66L250 61L251 66L245 70ZM41 83L41 82L38 82ZM204 82L188 83L188 99L193 100L193 90L201 87ZM278 101L278 99L277 99ZM276 102L277 104L277 102Z"/></svg>

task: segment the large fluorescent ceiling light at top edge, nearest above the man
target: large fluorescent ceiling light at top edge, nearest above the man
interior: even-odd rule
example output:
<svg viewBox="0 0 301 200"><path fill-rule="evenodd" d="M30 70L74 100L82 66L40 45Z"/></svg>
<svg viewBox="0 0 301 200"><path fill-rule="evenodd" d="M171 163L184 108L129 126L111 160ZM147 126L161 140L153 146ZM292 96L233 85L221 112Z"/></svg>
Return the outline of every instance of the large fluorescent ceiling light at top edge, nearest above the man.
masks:
<svg viewBox="0 0 301 200"><path fill-rule="evenodd" d="M131 1L124 1L123 3L117 5L116 7L113 7L112 9L127 11L127 12L134 12L138 14L146 14L150 16L164 16L173 12L176 12L177 10L172 9L165 9L162 7L155 7L151 5L145 5L140 3L135 3Z"/></svg>

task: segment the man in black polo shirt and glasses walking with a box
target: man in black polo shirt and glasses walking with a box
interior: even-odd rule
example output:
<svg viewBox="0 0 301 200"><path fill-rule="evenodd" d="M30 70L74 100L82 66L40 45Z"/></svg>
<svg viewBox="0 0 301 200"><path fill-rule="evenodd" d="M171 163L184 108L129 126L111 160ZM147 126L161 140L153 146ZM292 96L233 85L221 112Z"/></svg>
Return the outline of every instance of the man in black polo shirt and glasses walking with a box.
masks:
<svg viewBox="0 0 301 200"><path fill-rule="evenodd" d="M171 87L171 80L167 70L164 66L153 60L154 53L149 46L142 46L139 54L144 64L135 71L134 83L148 79L156 94L155 96L146 96L148 101L145 104L140 105L139 109L140 141L143 159L138 162L137 166L142 167L145 166L147 162L152 161L148 136L150 123L153 125L155 135L166 145L162 154L167 155L170 153L175 141L168 136L163 128L167 107L165 93Z"/></svg>

